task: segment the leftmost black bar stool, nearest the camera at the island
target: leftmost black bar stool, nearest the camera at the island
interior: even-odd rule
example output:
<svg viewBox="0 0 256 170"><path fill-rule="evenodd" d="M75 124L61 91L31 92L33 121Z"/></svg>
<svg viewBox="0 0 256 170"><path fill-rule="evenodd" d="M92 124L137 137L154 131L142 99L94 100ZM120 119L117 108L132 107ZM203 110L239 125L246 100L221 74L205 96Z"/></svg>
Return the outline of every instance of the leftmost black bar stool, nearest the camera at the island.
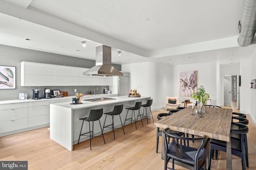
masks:
<svg viewBox="0 0 256 170"><path fill-rule="evenodd" d="M84 117L84 118L79 119L79 120L83 120L81 131L80 131L80 136L90 136L90 149L91 150L92 150L92 138L93 137L101 137L101 136L93 136L93 122L98 120L99 123L100 123L100 118L102 117L102 115L103 115L103 108L94 109L94 110L90 110L90 113L89 113L88 117ZM89 132L81 134L82 129L83 129L84 121L89 122ZM92 121L92 131L91 131L91 126L90 126L90 121ZM102 137L103 137L103 140L104 140L104 143L105 143L105 139L104 139L103 130L101 128L101 125L100 125L100 130L101 130L101 134L102 134ZM90 135L85 135L87 133L89 133ZM91 135L91 133L92 133L92 135ZM80 140L80 136L79 136L79 139L78 139L78 143L79 143L79 140Z"/></svg>

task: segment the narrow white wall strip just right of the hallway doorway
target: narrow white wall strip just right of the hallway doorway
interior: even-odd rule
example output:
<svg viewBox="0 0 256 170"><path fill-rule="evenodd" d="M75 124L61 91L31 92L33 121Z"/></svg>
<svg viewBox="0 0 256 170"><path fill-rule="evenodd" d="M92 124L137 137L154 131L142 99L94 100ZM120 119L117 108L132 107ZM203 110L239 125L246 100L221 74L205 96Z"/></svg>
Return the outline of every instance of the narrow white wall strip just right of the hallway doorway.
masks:
<svg viewBox="0 0 256 170"><path fill-rule="evenodd" d="M240 112L250 113L250 60L241 60Z"/></svg>

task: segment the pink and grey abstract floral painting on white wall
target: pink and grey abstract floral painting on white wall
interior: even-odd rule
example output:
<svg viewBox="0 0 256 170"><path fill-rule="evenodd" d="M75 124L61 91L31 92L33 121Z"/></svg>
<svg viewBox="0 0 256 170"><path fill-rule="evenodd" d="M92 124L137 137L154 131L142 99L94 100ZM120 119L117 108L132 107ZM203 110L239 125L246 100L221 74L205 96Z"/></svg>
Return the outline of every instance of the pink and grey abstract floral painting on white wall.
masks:
<svg viewBox="0 0 256 170"><path fill-rule="evenodd" d="M179 72L179 94L190 97L197 92L197 70Z"/></svg>

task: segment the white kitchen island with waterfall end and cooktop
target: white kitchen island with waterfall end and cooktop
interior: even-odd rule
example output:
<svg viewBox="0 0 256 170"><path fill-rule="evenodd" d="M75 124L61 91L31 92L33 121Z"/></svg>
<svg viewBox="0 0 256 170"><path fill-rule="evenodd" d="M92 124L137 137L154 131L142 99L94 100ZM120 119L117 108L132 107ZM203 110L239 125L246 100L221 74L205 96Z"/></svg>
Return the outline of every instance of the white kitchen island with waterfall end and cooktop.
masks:
<svg viewBox="0 0 256 170"><path fill-rule="evenodd" d="M142 104L146 104L146 101L150 99L148 96L141 96L140 98L120 96L112 97L116 100L108 100L102 102L86 102L82 101L83 104L71 105L70 102L50 104L50 139L59 143L68 150L73 150L73 145L78 143L78 138L80 135L80 130L82 126L82 121L79 120L82 117L87 117L91 109L103 108L103 113L112 111L115 105L124 105L124 109L120 114L122 123L124 124L127 107L132 107L136 102L142 101ZM143 109L141 110L141 113ZM145 111L146 112L146 111ZM137 113L137 112L136 112ZM148 111L150 114L150 111ZM145 113L146 114L146 113ZM131 117L131 113L128 114L127 118ZM135 115L137 116L138 113ZM150 116L150 115L148 115ZM100 119L101 126L103 128L105 120L105 115ZM126 121L126 124L130 121ZM140 123L140 122L138 122ZM107 117L106 124L112 124L112 117ZM118 116L114 117L115 127L121 127L120 118ZM89 131L89 123L85 122L82 132ZM111 131L110 128L104 129L104 132ZM100 135L100 125L98 121L94 122L94 135ZM125 136L124 136L125 137ZM81 136L80 142L89 139L89 137ZM108 141L106 141L107 143ZM103 140L102 140L103 143Z"/></svg>

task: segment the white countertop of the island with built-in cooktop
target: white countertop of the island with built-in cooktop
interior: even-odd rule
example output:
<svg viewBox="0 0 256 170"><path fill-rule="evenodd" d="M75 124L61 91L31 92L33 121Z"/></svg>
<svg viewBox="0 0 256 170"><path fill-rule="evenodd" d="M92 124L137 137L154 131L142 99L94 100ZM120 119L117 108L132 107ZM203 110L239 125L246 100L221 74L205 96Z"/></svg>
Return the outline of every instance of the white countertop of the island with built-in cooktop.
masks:
<svg viewBox="0 0 256 170"><path fill-rule="evenodd" d="M86 107L115 104L115 103L120 103L120 102L129 102L129 101L141 100L141 99L146 99L146 98L151 98L151 97L150 96L141 96L139 98L135 98L135 97L128 97L128 96L119 96L119 97L111 97L111 98L114 98L116 100L107 100L107 101L101 101L101 102L82 101L82 104L75 104L75 105L70 104L71 102L64 102L64 103L57 103L57 104L50 104L50 105L66 107L66 108L70 108L73 110L73 109L82 109L82 108L86 108Z"/></svg>

